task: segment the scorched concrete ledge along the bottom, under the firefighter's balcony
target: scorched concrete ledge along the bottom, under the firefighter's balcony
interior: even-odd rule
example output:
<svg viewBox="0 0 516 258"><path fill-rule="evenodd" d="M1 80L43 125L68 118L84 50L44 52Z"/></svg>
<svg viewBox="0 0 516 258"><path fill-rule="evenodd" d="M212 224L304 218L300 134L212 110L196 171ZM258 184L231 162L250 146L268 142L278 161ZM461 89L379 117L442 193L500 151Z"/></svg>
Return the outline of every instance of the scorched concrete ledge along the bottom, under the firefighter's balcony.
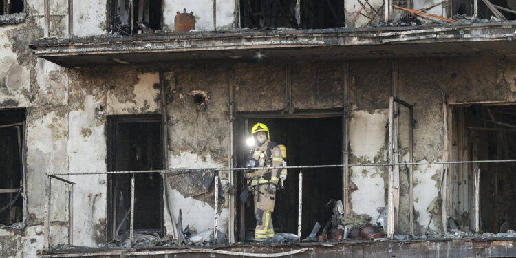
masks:
<svg viewBox="0 0 516 258"><path fill-rule="evenodd" d="M287 257L516 257L516 239L429 239L416 241L345 241L291 245L206 246L204 248L141 248L125 250L70 250L46 252L41 258L58 257L257 257L298 251ZM308 248L308 250L303 250ZM302 251L302 252L301 252ZM249 255L230 254L245 252ZM264 256L261 256L264 257Z"/></svg>

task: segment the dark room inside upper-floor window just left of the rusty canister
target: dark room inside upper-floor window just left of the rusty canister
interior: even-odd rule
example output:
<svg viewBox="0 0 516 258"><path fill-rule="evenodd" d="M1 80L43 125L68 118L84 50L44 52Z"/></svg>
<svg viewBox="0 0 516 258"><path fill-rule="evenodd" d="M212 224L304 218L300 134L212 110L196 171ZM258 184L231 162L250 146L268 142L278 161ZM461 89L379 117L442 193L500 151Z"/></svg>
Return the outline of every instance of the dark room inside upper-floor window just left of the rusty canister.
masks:
<svg viewBox="0 0 516 258"><path fill-rule="evenodd" d="M162 0L118 0L111 7L114 31L131 34L131 2L133 34L155 32L162 28Z"/></svg>

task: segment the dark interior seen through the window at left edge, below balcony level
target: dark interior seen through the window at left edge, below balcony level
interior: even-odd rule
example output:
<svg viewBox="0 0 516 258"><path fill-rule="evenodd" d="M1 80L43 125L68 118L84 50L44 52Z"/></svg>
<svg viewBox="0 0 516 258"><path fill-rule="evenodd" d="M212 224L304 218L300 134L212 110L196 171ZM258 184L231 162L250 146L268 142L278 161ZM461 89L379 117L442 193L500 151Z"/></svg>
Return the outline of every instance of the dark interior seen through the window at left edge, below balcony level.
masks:
<svg viewBox="0 0 516 258"><path fill-rule="evenodd" d="M0 224L23 221L25 109L0 111Z"/></svg>

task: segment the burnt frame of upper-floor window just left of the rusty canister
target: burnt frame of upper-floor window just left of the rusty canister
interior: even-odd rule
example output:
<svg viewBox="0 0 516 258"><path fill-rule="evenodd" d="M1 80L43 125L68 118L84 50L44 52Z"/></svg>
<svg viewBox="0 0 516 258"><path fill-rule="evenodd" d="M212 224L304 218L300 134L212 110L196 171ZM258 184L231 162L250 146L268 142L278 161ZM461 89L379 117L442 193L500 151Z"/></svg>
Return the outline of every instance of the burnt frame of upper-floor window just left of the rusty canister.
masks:
<svg viewBox="0 0 516 258"><path fill-rule="evenodd" d="M131 1L131 0L108 0L107 3L106 3L106 10L107 10L107 14L106 14L106 20L107 20L107 32L108 33L115 33L115 32L118 32L118 33L122 33L122 34L128 34L130 35L131 32L125 32L125 31L122 31L120 30L120 14L118 14L118 3L119 1ZM133 0L133 5L136 5L136 1L139 1L139 0ZM149 0L149 4L150 2L153 1L153 0ZM158 30L163 30L164 28L164 5L165 5L165 1L166 0L160 0L161 1L161 10L160 10L160 25L159 25L159 28L154 30L154 29L151 29L153 30L153 32L157 32ZM130 12L130 9L128 10L128 12ZM129 16L131 16L131 14L129 14ZM133 14L133 17L134 17L134 14ZM130 17L129 17L130 18ZM130 23L130 22L129 22ZM138 23L137 21L133 21L133 28L134 27L138 27ZM149 32L145 32L144 30L142 30L142 34L148 34ZM138 34L137 30L133 30L132 31L132 34Z"/></svg>

